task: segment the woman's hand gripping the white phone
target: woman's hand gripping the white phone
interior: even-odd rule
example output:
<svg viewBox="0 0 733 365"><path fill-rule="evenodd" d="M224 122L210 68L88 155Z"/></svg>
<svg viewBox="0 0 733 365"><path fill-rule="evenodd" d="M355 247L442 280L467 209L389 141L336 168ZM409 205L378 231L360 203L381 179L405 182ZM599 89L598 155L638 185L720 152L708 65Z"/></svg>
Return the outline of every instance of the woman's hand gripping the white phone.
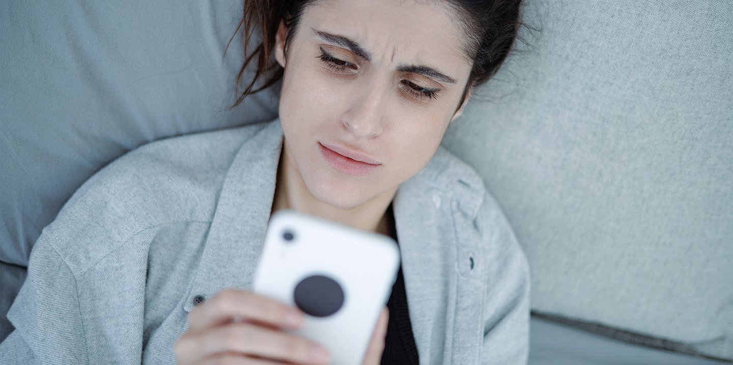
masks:
<svg viewBox="0 0 733 365"><path fill-rule="evenodd" d="M303 313L297 309L243 290L223 290L191 311L174 353L181 365L329 364L325 347L283 331L301 326Z"/></svg>

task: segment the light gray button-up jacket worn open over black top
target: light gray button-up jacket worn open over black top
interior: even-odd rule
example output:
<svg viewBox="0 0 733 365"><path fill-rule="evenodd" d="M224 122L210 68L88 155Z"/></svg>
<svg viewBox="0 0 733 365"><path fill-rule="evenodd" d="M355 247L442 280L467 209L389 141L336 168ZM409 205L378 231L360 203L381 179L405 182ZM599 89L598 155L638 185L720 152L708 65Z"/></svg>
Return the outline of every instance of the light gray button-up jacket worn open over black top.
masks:
<svg viewBox="0 0 733 365"><path fill-rule="evenodd" d="M4 364L173 364L196 296L251 290L279 119L149 143L43 230L0 344ZM394 216L421 364L526 364L526 257L482 179L438 148Z"/></svg>

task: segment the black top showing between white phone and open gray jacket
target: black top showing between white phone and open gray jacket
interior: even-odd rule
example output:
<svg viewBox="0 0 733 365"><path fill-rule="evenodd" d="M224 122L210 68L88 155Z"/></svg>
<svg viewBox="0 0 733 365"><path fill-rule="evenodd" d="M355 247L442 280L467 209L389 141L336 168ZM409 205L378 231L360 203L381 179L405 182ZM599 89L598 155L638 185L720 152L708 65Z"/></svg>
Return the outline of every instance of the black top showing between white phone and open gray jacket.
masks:
<svg viewBox="0 0 733 365"><path fill-rule="evenodd" d="M384 339L384 352L381 365L419 365L417 347L410 325L408 312L408 296L405 293L405 281L402 279L402 265L397 271L397 280L387 302L389 322Z"/></svg>

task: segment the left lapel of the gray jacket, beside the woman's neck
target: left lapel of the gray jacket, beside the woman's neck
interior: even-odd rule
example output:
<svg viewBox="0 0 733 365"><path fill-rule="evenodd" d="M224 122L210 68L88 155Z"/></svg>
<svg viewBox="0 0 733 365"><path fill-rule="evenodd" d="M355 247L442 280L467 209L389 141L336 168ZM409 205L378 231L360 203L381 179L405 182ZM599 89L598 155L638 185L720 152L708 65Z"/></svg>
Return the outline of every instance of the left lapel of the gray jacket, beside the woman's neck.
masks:
<svg viewBox="0 0 733 365"><path fill-rule="evenodd" d="M250 128L254 126L248 126ZM254 271L275 195L282 148L279 119L265 124L243 143L224 178L196 279L184 309L193 298L209 298L226 287L251 290Z"/></svg>

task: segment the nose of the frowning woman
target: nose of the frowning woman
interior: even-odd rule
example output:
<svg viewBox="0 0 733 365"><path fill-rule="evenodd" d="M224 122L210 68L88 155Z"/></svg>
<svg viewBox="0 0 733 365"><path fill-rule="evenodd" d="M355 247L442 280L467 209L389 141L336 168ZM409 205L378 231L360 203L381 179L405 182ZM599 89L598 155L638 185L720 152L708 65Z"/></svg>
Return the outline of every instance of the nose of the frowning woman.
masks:
<svg viewBox="0 0 733 365"><path fill-rule="evenodd" d="M345 127L358 138L373 138L382 134L382 122L388 89L385 83L370 80L362 84L363 92L353 99L351 108L342 116Z"/></svg>

